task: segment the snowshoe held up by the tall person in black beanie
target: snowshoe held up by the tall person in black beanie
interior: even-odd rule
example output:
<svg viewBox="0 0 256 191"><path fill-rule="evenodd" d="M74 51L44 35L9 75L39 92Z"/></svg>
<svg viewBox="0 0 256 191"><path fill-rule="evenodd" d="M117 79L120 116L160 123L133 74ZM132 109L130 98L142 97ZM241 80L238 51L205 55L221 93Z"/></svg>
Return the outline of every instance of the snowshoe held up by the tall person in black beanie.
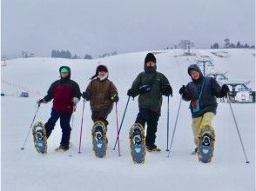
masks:
<svg viewBox="0 0 256 191"><path fill-rule="evenodd" d="M135 123L129 131L131 159L134 163L145 162L145 132L141 124Z"/></svg>

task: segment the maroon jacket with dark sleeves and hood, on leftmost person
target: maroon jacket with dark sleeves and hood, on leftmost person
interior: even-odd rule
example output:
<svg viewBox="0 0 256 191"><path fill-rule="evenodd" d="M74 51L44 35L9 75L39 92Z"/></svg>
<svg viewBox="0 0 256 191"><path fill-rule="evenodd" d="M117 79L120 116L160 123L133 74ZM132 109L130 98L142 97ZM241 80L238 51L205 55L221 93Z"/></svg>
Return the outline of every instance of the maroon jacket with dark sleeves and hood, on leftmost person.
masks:
<svg viewBox="0 0 256 191"><path fill-rule="evenodd" d="M63 67L60 67L59 71ZM52 109L55 111L72 112L72 98L80 99L81 92L77 82L71 80L71 69L67 66L65 68L69 70L69 76L53 82L47 91L47 95L44 96L44 101L50 102L53 99Z"/></svg>

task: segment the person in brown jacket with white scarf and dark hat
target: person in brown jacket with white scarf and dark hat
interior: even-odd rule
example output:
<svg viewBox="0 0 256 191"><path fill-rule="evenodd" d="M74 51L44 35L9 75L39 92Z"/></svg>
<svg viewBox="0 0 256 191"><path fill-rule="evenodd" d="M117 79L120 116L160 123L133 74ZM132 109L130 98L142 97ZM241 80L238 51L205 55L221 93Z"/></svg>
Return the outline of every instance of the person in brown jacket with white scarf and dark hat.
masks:
<svg viewBox="0 0 256 191"><path fill-rule="evenodd" d="M118 89L108 79L109 72L105 65L98 65L96 74L91 77L91 82L87 86L82 97L90 101L91 119L93 122L104 122L108 125L107 116L113 109L113 102L118 102ZM95 79L96 78L96 79Z"/></svg>

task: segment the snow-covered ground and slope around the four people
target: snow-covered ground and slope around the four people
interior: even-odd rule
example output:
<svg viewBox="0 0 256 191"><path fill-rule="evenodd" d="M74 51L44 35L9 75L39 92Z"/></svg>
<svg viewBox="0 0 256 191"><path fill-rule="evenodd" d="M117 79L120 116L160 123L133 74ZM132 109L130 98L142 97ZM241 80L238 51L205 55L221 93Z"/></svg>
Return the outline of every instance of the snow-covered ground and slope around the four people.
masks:
<svg viewBox="0 0 256 191"><path fill-rule="evenodd" d="M219 71L226 72L232 80L251 81L255 86L254 49L194 49L195 56L181 56L181 49L157 51L158 71L171 82L174 95L170 102L170 138L179 106L179 87L189 82L187 66L202 56L212 58ZM215 54L212 54L212 52ZM105 159L91 152L91 110L85 103L82 154L77 154L81 126L82 102L77 106L73 128L73 156L56 153L61 130L59 123L48 141L48 154L37 154L31 135L23 145L30 122L36 112L36 101L46 94L51 82L59 77L61 65L71 67L71 78L84 90L94 75L99 62L110 70L109 79L119 91L118 117L121 122L127 102L126 91L131 82L143 71L146 52L105 57L97 60L66 60L53 58L20 58L8 60L2 67L1 90L9 96L1 98L1 167L3 190L254 190L255 187L255 104L232 104L237 117L247 156L242 153L232 113L227 103L219 103L213 120L216 129L215 153L209 164L200 163L194 149L191 115L188 102L182 102L171 157L167 158L166 118L167 99L163 100L162 115L158 122L157 145L159 154L147 153L143 165L134 165L128 143L128 131L138 113L138 101L128 105L120 135L121 157L112 150L116 138L116 118L109 115L109 148ZM221 55L221 56L216 56ZM24 89L29 98L17 97ZM255 90L255 89L254 89ZM46 122L50 117L51 103L39 109L36 121Z"/></svg>

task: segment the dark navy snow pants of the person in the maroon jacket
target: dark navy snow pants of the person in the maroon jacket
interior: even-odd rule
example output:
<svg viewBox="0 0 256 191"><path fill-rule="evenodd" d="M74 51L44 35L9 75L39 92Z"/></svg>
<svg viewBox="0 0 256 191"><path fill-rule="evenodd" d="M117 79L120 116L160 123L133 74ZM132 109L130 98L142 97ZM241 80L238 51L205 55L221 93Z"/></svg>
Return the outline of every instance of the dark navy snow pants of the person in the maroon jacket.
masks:
<svg viewBox="0 0 256 191"><path fill-rule="evenodd" d="M52 109L51 117L48 122L45 123L47 138L51 135L51 131L54 129L54 126L59 118L60 128L62 128L62 138L60 145L69 146L71 138L71 115L72 112L58 112Z"/></svg>

